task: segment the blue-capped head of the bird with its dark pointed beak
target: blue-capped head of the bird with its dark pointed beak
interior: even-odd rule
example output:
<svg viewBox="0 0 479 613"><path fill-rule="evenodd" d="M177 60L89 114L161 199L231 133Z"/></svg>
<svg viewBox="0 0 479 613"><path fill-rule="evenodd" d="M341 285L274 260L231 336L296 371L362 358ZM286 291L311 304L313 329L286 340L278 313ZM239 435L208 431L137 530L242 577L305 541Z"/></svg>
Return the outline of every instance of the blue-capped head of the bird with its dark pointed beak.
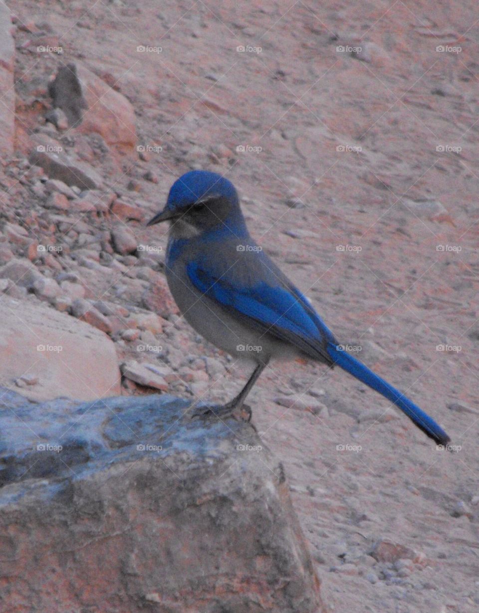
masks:
<svg viewBox="0 0 479 613"><path fill-rule="evenodd" d="M148 226L170 221L177 238L191 238L209 230L246 231L235 186L225 177L207 170L191 170L169 190L166 206Z"/></svg>

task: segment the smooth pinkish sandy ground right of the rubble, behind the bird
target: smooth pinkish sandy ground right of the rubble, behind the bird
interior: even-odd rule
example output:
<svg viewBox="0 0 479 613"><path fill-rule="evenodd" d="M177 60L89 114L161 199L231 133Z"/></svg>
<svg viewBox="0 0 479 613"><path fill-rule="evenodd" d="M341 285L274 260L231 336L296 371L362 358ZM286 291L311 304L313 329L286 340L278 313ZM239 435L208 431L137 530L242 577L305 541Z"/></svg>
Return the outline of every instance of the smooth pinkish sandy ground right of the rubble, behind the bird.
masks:
<svg viewBox="0 0 479 613"><path fill-rule="evenodd" d="M59 66L80 58L108 75L138 142L162 147L141 169L135 156L96 170L123 189L156 173L141 182L152 209L183 172L224 173L255 239L338 338L450 434L455 451L438 451L339 369L263 373L254 422L284 462L330 609L478 611L477 4L9 6L58 35ZM44 70L36 59L29 75ZM157 245L164 231L135 230ZM182 319L165 343L228 365L209 397L249 374ZM415 562L376 562L381 539Z"/></svg>

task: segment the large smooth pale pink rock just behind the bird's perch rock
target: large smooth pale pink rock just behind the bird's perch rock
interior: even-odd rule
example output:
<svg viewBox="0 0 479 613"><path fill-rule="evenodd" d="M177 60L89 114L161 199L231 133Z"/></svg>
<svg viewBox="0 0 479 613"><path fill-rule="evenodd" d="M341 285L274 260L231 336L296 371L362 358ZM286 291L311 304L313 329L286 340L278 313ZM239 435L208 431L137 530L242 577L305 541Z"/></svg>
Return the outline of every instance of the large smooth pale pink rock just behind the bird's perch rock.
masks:
<svg viewBox="0 0 479 613"><path fill-rule="evenodd" d="M0 384L14 389L15 379L34 368L39 383L22 390L32 400L94 400L120 393L114 343L82 321L4 295L0 336Z"/></svg>

